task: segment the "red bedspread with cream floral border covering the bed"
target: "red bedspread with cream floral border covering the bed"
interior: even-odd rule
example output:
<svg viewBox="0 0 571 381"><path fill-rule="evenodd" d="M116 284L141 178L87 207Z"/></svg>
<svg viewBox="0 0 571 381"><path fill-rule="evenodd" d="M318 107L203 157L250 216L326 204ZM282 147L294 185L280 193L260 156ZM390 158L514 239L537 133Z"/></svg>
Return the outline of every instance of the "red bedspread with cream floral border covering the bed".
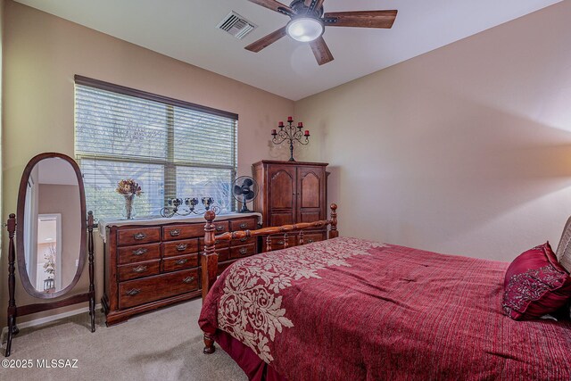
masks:
<svg viewBox="0 0 571 381"><path fill-rule="evenodd" d="M236 262L199 323L289 380L571 379L569 323L501 312L507 267L336 238Z"/></svg>

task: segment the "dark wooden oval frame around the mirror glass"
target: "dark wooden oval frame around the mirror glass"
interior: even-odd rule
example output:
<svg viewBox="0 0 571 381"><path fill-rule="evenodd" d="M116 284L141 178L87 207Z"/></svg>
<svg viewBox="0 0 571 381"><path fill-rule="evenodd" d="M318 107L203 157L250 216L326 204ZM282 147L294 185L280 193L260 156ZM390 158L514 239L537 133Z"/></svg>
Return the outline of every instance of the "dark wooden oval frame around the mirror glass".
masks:
<svg viewBox="0 0 571 381"><path fill-rule="evenodd" d="M71 168L75 171L76 177L78 178L78 186L79 186L79 203L80 203L80 211L79 211L79 221L81 221L81 237L79 240L79 265L78 269L76 269L75 276L71 280L71 283L62 290L57 291L53 294L44 294L37 291L36 287L34 287L31 282L29 281L28 276L28 269L26 269L26 254L25 254L25 243L24 243L24 220L26 216L24 216L25 205L26 205L26 194L28 188L28 180L29 175L31 174L32 170L36 165L45 160L45 159L62 159L65 162L68 162ZM83 178L81 177L81 170L79 170L79 165L70 156L65 155L63 153L40 153L34 156L26 165L26 169L24 170L23 174L21 175L20 181L20 189L18 191L18 209L17 209L17 221L18 224L16 225L16 249L17 249L17 257L18 257L18 272L20 273L21 284L24 286L24 289L28 294L34 296L38 299L54 299L64 294L70 292L73 286L77 285L79 281L79 277L81 277L81 273L83 272L83 267L86 262L86 245L87 245L87 211L86 211L86 191L83 185Z"/></svg>

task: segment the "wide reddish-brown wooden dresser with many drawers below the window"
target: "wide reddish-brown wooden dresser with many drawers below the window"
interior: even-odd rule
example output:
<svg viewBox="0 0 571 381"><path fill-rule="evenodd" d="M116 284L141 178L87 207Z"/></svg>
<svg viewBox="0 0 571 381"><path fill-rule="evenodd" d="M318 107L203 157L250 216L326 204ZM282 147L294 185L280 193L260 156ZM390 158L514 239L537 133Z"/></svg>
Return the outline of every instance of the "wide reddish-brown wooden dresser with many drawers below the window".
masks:
<svg viewBox="0 0 571 381"><path fill-rule="evenodd" d="M258 228L258 215L217 217L217 234ZM149 225L133 221L105 228L103 311L107 326L131 316L201 295L200 253L204 248L202 216L168 219ZM153 222L151 222L153 223ZM258 253L256 238L220 243L219 272L237 259Z"/></svg>

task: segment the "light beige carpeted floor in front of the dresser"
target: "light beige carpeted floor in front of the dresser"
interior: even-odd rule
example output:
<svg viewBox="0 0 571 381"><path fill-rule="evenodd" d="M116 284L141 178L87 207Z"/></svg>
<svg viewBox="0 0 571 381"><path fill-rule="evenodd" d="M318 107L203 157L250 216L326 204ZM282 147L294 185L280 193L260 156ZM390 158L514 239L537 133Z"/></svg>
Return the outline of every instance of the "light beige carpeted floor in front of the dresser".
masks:
<svg viewBox="0 0 571 381"><path fill-rule="evenodd" d="M95 333L87 313L41 327L21 329L9 360L32 360L33 369L4 369L2 380L245 380L244 372L217 346L203 354L198 327L201 300L185 302L105 327L97 311ZM0 360L4 360L4 350ZM78 369L37 369L37 360L77 359Z"/></svg>

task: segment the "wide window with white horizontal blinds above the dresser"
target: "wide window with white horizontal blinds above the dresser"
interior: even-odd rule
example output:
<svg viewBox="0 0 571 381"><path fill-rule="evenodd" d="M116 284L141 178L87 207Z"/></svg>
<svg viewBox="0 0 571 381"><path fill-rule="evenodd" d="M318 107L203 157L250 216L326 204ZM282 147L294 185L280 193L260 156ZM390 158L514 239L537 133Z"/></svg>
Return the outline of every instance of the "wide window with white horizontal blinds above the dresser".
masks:
<svg viewBox="0 0 571 381"><path fill-rule="evenodd" d="M75 78L75 152L86 187L87 210L120 218L120 179L134 178L143 195L137 217L156 217L174 197L213 197L233 211L236 114Z"/></svg>

